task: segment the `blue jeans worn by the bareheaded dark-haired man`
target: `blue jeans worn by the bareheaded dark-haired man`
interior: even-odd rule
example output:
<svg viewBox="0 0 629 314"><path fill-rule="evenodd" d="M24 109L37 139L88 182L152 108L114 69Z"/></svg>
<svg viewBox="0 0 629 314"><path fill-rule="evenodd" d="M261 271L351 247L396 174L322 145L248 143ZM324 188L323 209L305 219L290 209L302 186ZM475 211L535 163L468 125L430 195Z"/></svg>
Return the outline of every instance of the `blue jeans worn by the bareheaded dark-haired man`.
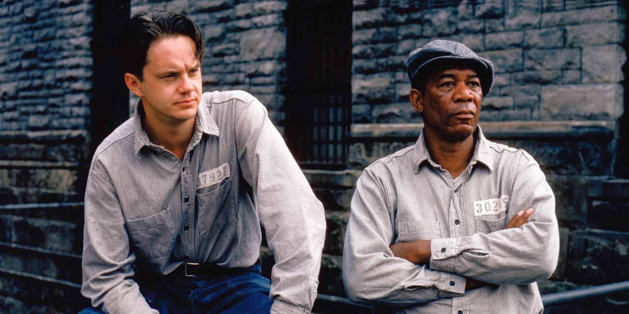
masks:
<svg viewBox="0 0 629 314"><path fill-rule="evenodd" d="M140 292L151 308L160 314L177 313L265 313L270 312L270 281L260 274L260 265L229 276L181 274L138 279ZM102 314L89 307L79 314Z"/></svg>

